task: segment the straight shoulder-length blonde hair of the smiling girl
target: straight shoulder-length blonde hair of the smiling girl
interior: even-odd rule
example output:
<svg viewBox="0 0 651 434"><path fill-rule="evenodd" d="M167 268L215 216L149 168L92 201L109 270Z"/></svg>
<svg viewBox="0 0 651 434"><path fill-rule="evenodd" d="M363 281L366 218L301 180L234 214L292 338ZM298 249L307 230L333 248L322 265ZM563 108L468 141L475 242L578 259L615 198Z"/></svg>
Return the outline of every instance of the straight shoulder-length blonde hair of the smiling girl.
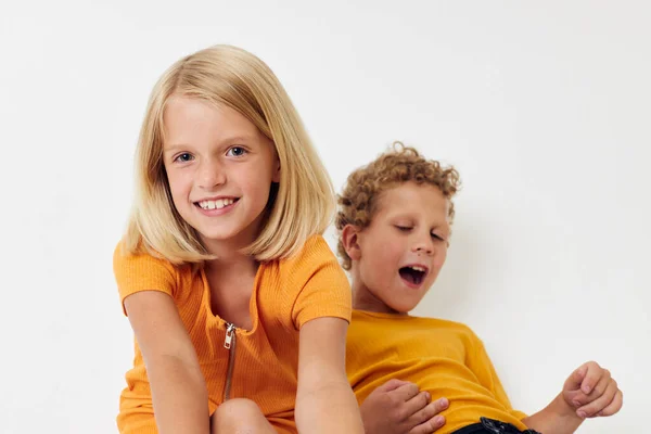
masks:
<svg viewBox="0 0 651 434"><path fill-rule="evenodd" d="M163 165L163 114L173 94L229 106L275 143L280 182L271 190L260 233L244 253L260 261L288 257L326 230L334 212L334 190L290 97L258 58L235 47L214 46L177 61L152 91L137 146L136 200L125 235L128 252L162 256L176 265L215 258L171 201Z"/></svg>

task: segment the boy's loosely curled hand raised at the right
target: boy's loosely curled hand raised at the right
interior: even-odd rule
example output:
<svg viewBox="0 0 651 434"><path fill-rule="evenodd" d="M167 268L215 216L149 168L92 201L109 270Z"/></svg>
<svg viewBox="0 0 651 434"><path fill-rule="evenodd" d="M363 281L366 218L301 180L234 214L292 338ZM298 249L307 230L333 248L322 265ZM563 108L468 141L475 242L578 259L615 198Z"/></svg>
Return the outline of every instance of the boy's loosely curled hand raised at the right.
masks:
<svg viewBox="0 0 651 434"><path fill-rule="evenodd" d="M582 419L613 416L622 408L623 395L608 369L596 361L582 365L565 381L565 404Z"/></svg>

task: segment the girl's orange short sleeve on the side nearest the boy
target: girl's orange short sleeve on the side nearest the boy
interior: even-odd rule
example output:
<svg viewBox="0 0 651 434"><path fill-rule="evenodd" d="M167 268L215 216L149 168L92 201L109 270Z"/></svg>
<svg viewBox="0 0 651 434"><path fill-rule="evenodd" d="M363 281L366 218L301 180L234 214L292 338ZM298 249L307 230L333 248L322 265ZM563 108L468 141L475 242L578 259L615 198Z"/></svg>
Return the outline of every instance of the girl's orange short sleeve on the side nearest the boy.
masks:
<svg viewBox="0 0 651 434"><path fill-rule="evenodd" d="M292 321L297 330L316 318L350 322L352 291L344 270L322 237L310 239L293 264L292 280L299 286Z"/></svg>

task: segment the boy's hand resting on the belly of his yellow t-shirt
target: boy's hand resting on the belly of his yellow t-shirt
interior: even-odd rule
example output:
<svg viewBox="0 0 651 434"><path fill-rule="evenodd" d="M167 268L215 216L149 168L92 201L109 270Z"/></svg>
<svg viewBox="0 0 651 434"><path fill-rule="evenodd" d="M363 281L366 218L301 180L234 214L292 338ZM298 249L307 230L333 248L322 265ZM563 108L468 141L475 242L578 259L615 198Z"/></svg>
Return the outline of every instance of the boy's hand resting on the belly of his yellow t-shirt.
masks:
<svg viewBox="0 0 651 434"><path fill-rule="evenodd" d="M430 403L427 392L413 383L390 380L375 388L359 407L367 434L431 434L445 424L438 412L445 398Z"/></svg>

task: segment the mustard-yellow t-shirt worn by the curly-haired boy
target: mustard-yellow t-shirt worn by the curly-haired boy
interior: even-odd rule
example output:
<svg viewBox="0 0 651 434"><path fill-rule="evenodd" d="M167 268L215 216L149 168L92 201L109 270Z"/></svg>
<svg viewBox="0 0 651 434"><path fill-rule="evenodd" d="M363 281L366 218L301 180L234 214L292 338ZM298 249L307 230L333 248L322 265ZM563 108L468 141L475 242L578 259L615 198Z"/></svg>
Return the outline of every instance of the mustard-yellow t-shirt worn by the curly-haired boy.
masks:
<svg viewBox="0 0 651 434"><path fill-rule="evenodd" d="M433 318L353 310L346 370L361 404L391 379L418 384L432 400L446 397L446 424L452 433L487 417L526 430L526 414L513 410L484 349L464 324Z"/></svg>

